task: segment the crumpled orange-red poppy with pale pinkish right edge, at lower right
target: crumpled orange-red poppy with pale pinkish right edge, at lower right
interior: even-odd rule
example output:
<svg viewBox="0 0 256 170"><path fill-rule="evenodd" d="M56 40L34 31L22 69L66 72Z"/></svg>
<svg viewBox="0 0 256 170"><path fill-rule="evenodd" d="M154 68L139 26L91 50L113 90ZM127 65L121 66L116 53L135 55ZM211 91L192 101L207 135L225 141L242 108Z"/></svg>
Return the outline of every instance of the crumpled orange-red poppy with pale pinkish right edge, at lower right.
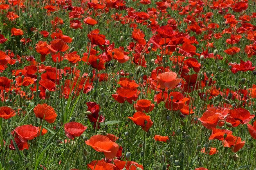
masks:
<svg viewBox="0 0 256 170"><path fill-rule="evenodd" d="M201 121L202 125L207 129L213 129L216 128L216 126L223 126L224 124L224 116L211 110L205 111L198 120Z"/></svg>

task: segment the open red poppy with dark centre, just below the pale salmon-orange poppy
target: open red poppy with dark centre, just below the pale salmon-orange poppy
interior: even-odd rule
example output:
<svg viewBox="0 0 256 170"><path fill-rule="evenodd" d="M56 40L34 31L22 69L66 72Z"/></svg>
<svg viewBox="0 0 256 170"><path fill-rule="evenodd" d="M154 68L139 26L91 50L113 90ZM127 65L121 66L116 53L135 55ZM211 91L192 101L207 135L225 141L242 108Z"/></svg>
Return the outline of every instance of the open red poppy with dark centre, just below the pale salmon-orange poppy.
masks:
<svg viewBox="0 0 256 170"><path fill-rule="evenodd" d="M165 107L168 110L180 110L184 107L187 101L189 101L189 98L184 97L182 93L171 92L169 94L167 101L165 102Z"/></svg>

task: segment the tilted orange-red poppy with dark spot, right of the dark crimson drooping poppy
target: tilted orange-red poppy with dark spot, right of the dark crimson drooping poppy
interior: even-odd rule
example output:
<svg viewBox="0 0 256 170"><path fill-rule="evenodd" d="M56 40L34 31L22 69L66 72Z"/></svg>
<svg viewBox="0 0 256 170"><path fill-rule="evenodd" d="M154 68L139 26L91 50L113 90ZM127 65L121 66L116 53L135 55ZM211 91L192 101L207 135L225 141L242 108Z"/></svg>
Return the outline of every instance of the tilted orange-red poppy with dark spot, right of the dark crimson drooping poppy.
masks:
<svg viewBox="0 0 256 170"><path fill-rule="evenodd" d="M151 121L150 116L146 115L143 112L136 112L132 117L128 117L136 125L141 126L141 128L148 132L149 128L153 126L153 121Z"/></svg>

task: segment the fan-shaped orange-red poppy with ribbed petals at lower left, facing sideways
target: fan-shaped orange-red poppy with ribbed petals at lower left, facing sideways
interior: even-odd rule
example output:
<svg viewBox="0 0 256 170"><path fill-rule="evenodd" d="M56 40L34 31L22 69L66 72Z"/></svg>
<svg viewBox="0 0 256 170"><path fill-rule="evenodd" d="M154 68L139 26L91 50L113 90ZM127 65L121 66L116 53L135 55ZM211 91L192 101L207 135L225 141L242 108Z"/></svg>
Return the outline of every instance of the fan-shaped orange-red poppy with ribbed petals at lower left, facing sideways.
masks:
<svg viewBox="0 0 256 170"><path fill-rule="evenodd" d="M34 108L34 113L36 117L40 119L44 119L50 124L54 123L57 117L57 114L54 108L52 108L51 106L48 106L45 103L36 105L36 107Z"/></svg>

